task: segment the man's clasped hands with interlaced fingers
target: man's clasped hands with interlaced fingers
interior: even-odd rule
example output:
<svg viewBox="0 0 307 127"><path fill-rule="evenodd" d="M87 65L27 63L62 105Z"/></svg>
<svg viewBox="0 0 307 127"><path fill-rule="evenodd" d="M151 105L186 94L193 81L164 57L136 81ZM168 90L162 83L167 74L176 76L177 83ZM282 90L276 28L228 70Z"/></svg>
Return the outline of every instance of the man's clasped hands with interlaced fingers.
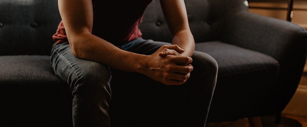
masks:
<svg viewBox="0 0 307 127"><path fill-rule="evenodd" d="M189 64L192 62L192 58L178 55L173 50L177 51L178 54L184 52L177 45L163 45L155 53L144 59L146 65L141 73L165 85L184 84L193 70L193 66Z"/></svg>

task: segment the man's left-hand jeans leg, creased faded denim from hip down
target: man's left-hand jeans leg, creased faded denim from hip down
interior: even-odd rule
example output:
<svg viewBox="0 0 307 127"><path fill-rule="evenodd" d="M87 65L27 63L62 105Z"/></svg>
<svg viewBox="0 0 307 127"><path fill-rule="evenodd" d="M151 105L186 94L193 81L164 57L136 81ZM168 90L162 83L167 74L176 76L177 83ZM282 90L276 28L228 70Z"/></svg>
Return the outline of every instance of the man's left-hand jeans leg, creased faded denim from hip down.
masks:
<svg viewBox="0 0 307 127"><path fill-rule="evenodd" d="M72 119L75 127L109 127L111 99L109 67L76 58L67 43L51 52L52 67L70 85L73 95Z"/></svg>

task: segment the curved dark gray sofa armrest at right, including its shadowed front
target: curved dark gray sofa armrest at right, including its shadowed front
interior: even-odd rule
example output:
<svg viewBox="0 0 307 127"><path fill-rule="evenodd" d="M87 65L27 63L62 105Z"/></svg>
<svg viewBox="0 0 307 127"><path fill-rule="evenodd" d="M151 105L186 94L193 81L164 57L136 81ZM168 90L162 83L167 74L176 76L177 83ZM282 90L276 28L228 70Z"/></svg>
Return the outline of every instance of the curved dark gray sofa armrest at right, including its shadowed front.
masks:
<svg viewBox="0 0 307 127"><path fill-rule="evenodd" d="M299 84L306 61L307 33L302 27L287 21L268 18L247 11L227 19L221 40L249 50L267 54L280 64L275 95L281 111L292 98ZM278 101L277 101L278 102Z"/></svg>

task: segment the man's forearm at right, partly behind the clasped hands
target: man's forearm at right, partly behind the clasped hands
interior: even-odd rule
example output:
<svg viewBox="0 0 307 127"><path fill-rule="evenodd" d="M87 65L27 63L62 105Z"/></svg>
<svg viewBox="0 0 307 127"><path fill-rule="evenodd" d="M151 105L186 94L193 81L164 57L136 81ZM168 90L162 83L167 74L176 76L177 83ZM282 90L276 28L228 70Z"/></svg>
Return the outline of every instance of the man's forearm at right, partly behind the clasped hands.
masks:
<svg viewBox="0 0 307 127"><path fill-rule="evenodd" d="M185 50L182 54L191 57L194 53L195 42L190 30L181 30L173 37L173 45L178 45Z"/></svg>

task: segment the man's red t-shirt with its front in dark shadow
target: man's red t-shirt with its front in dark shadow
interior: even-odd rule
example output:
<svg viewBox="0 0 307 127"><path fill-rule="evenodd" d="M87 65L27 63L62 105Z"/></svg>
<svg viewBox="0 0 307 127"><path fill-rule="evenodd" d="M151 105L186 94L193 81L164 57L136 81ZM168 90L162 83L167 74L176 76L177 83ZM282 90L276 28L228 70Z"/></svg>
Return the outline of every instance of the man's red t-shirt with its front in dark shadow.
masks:
<svg viewBox="0 0 307 127"><path fill-rule="evenodd" d="M142 36L138 29L143 13L152 0L92 0L92 34L114 45L125 44ZM68 42L61 21L52 36L57 43Z"/></svg>

